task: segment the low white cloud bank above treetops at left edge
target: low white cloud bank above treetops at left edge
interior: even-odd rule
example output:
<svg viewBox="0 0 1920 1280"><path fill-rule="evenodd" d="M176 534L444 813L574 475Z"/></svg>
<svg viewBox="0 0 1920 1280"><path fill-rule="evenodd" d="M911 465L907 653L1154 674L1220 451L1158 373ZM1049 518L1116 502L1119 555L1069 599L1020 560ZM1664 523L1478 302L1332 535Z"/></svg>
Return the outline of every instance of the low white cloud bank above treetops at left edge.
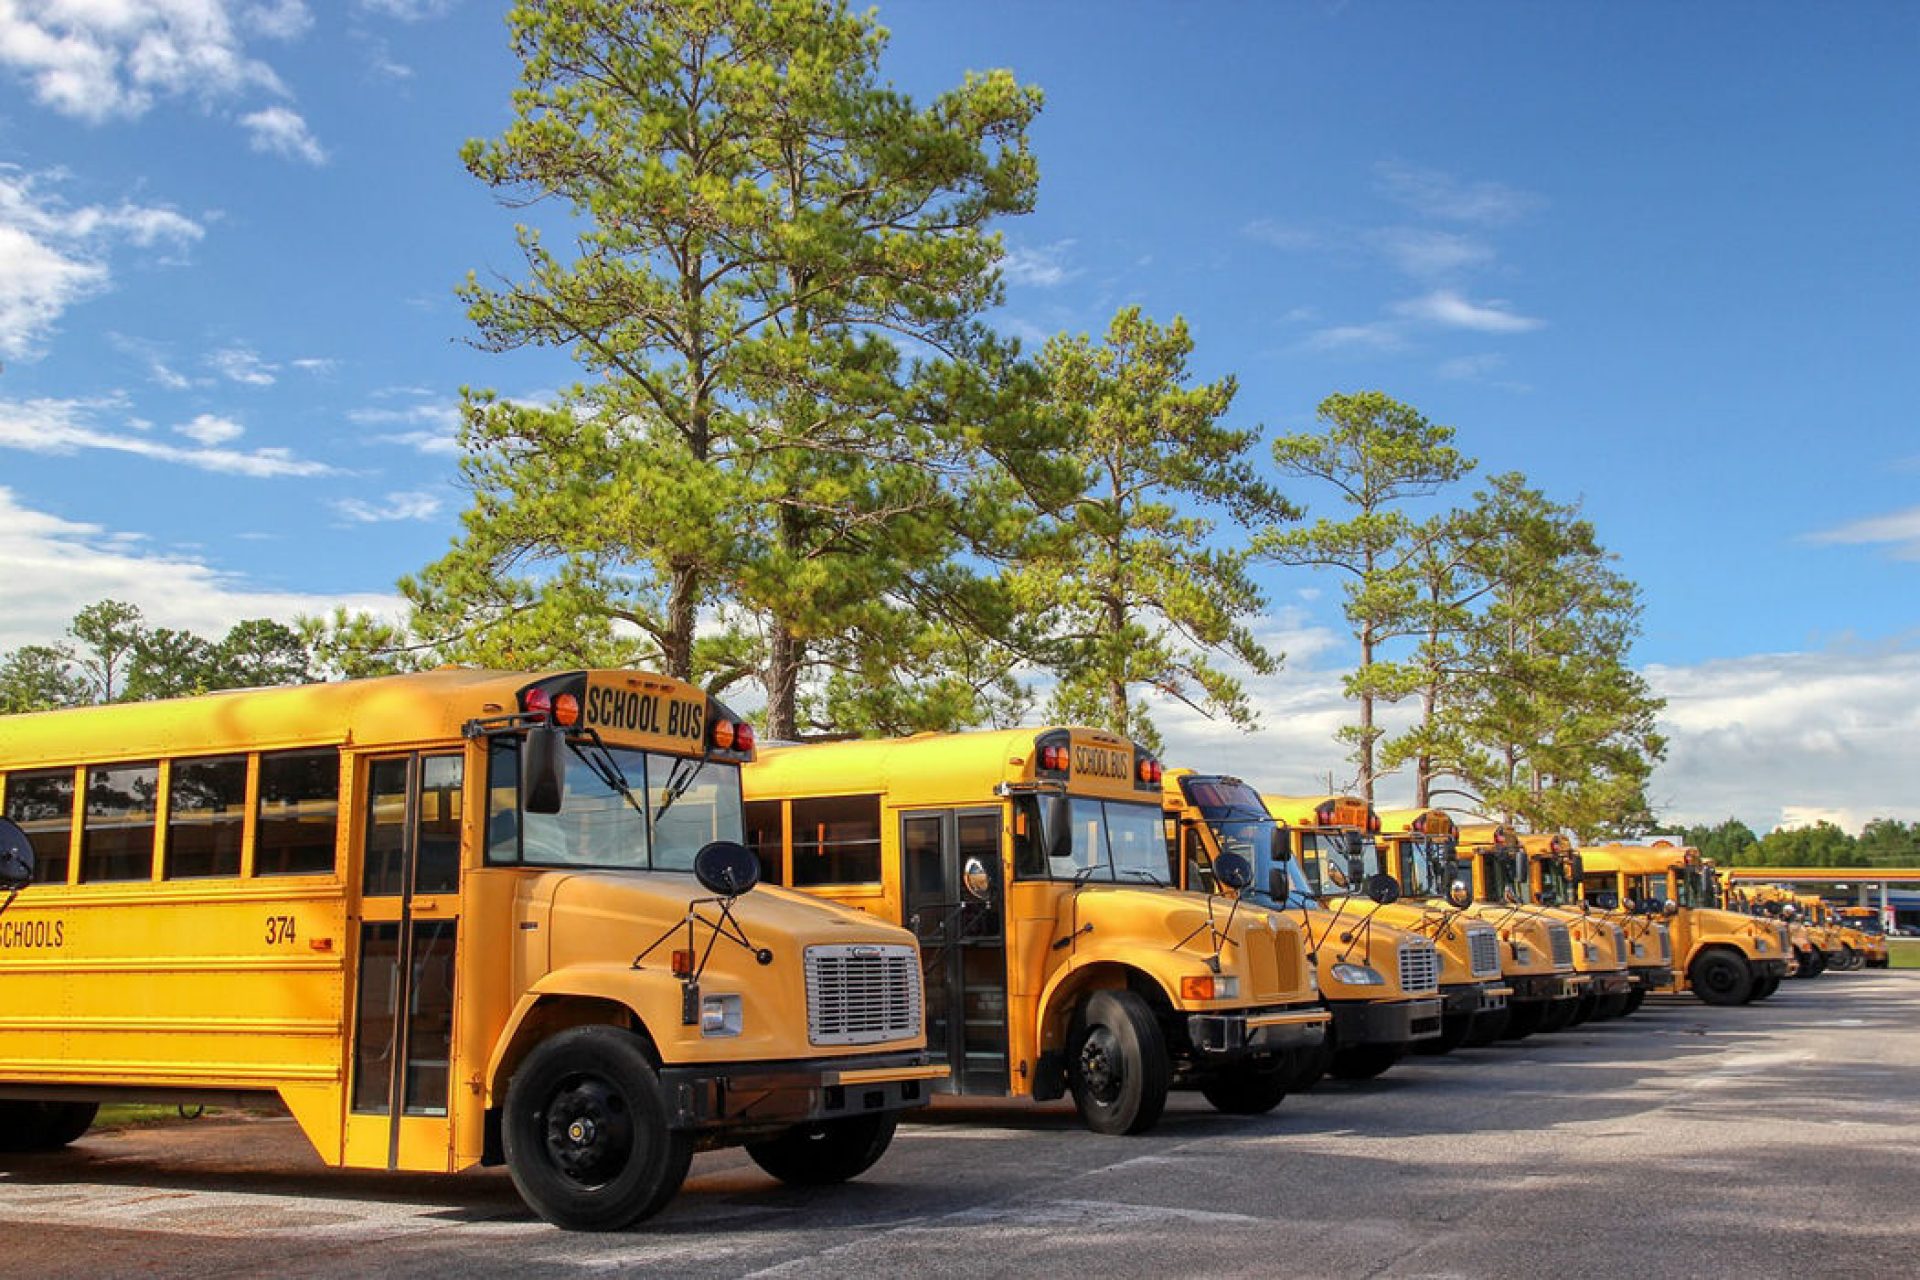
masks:
<svg viewBox="0 0 1920 1280"><path fill-rule="evenodd" d="M0 564L8 566L0 651L54 643L73 614L106 599L138 604L154 626L200 635L225 635L242 618L290 622L336 606L388 618L405 614L392 595L261 591L205 560L159 553L144 541L136 533L33 510L0 486Z"/></svg>

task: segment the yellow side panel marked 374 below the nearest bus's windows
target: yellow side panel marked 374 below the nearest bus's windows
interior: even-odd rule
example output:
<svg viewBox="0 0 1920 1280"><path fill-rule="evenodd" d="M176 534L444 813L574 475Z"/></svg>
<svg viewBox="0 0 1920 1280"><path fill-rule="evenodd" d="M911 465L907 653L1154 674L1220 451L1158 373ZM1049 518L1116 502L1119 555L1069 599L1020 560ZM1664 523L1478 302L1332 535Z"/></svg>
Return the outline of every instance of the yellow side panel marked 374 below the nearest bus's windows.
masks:
<svg viewBox="0 0 1920 1280"><path fill-rule="evenodd" d="M0 1080L338 1098L348 950L332 881L23 896L0 917Z"/></svg>

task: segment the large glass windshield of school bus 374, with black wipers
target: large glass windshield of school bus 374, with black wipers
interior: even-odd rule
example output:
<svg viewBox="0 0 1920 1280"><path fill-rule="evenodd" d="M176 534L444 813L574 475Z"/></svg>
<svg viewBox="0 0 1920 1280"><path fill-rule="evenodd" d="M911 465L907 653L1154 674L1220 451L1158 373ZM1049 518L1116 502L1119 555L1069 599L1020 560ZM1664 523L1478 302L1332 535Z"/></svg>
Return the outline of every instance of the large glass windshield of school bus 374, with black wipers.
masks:
<svg viewBox="0 0 1920 1280"><path fill-rule="evenodd" d="M566 756L561 812L528 814L518 747L492 747L492 864L691 871L701 846L743 839L737 764L580 747Z"/></svg>

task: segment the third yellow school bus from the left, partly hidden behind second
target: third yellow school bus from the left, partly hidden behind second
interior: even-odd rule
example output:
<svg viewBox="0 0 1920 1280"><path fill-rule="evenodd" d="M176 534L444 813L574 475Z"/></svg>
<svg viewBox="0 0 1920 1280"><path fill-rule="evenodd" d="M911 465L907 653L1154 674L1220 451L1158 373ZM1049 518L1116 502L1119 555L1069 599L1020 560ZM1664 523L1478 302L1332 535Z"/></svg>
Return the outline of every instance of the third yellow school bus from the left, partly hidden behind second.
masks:
<svg viewBox="0 0 1920 1280"><path fill-rule="evenodd" d="M1369 908L1346 898L1327 908L1300 877L1290 833L1250 785L1225 773L1167 770L1167 858L1187 889L1212 889L1223 856L1254 865L1240 898L1261 910L1284 910L1300 921L1319 977L1321 1004L1332 1015L1325 1038L1304 1054L1290 1088L1311 1088L1323 1075L1365 1080L1392 1067L1419 1040L1440 1034L1432 942L1392 925L1375 925ZM1354 910L1350 910L1354 908Z"/></svg>

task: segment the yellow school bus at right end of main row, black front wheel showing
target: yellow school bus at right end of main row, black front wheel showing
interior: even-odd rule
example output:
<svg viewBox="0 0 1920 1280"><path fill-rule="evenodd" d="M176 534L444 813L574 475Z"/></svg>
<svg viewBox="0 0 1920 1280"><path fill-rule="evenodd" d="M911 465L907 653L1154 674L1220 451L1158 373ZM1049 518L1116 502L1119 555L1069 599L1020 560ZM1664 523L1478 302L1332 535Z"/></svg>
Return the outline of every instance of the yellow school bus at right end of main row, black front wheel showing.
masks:
<svg viewBox="0 0 1920 1280"><path fill-rule="evenodd" d="M1580 850L1584 885L1611 877L1620 902L1657 910L1672 929L1674 979L1667 990L1692 990L1707 1004L1764 1000L1788 973L1786 925L1722 910L1718 883L1697 848L1592 844Z"/></svg>

